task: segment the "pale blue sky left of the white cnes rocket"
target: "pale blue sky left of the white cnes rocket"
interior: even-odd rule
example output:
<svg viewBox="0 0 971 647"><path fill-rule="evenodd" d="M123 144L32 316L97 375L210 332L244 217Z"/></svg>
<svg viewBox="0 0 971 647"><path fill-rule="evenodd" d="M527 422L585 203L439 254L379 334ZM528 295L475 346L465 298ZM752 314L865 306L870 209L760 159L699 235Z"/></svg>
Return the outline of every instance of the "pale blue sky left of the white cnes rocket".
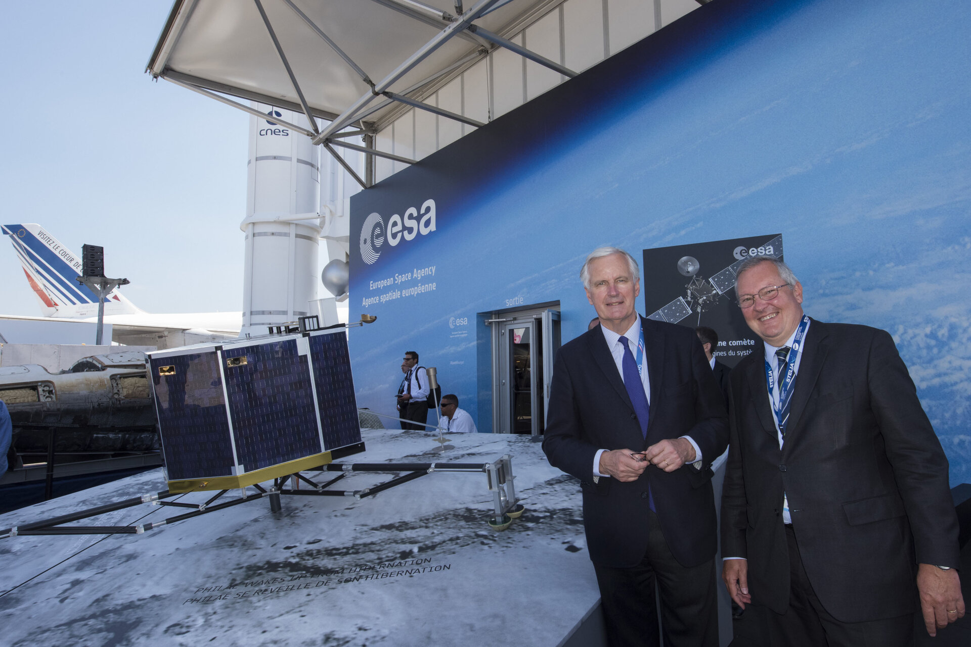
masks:
<svg viewBox="0 0 971 647"><path fill-rule="evenodd" d="M249 115L145 74L171 6L5 4L0 218L103 245L151 312L239 310ZM0 279L0 312L40 314L6 238Z"/></svg>

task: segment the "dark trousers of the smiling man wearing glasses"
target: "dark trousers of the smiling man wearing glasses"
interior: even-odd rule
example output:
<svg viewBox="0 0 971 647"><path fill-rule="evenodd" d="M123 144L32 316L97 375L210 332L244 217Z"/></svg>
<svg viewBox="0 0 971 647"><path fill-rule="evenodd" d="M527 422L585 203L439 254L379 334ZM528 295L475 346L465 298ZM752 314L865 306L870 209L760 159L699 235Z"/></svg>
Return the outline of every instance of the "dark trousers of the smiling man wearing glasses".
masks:
<svg viewBox="0 0 971 647"><path fill-rule="evenodd" d="M816 597L799 555L799 542L786 527L789 556L789 607L778 614L753 604L764 647L908 647L914 644L914 614L865 623L843 623L833 618ZM748 615L750 607L745 614ZM748 619L747 619L748 620Z"/></svg>

